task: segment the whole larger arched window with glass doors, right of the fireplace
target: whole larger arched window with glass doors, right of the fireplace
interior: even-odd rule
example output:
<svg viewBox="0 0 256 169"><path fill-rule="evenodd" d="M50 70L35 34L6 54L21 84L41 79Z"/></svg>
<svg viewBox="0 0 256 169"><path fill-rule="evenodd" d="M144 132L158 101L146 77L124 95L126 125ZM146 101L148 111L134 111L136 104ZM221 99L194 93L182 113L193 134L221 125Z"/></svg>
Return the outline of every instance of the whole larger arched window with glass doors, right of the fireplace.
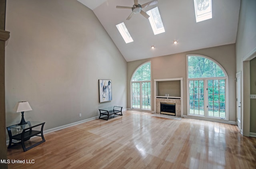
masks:
<svg viewBox="0 0 256 169"><path fill-rule="evenodd" d="M188 115L228 120L228 76L212 59L187 55Z"/></svg>

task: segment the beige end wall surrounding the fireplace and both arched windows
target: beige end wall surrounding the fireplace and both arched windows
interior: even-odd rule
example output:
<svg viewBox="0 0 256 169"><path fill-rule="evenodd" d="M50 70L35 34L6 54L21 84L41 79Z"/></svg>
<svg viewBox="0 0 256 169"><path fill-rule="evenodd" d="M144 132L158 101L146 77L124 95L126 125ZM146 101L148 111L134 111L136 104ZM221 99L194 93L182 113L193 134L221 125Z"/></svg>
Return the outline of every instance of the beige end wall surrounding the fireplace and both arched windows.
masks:
<svg viewBox="0 0 256 169"><path fill-rule="evenodd" d="M235 44L223 45L218 47L211 47L195 51L188 51L173 55L156 57L151 59L143 59L139 61L128 62L128 107L130 107L130 80L132 73L138 66L146 61L151 61L152 71L152 110L154 110L154 79L170 79L183 78L183 98L184 98L184 115L187 114L187 100L186 100L186 55L199 54L210 57L220 63L228 74L228 92L229 92L229 120L236 121L236 59L235 59Z"/></svg>

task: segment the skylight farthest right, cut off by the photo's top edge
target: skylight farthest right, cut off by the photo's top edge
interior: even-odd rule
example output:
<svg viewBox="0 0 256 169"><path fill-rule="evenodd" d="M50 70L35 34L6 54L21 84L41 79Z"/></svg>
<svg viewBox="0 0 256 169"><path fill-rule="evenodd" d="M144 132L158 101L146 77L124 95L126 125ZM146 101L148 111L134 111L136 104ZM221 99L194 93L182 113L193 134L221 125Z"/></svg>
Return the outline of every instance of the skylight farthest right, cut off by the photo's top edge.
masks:
<svg viewBox="0 0 256 169"><path fill-rule="evenodd" d="M196 22L212 18L212 0L194 0Z"/></svg>

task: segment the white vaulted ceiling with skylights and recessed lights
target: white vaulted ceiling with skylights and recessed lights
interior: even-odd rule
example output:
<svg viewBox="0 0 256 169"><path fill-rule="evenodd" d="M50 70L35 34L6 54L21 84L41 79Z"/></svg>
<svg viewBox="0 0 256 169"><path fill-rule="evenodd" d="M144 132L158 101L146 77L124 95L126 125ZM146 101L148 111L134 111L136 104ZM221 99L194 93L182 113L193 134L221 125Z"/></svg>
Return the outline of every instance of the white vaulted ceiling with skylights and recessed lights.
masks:
<svg viewBox="0 0 256 169"><path fill-rule="evenodd" d="M193 0L158 0L158 4L144 8L146 12L158 6L164 33L154 35L148 19L134 14L126 18L131 9L116 6L133 6L134 0L78 0L100 20L126 61L134 61L207 47L236 43L240 0L212 0L212 19L196 22ZM150 0L139 0L145 4ZM124 22L130 32L131 43L125 43L117 24ZM177 40L177 44L173 41ZM151 49L154 45L155 49Z"/></svg>

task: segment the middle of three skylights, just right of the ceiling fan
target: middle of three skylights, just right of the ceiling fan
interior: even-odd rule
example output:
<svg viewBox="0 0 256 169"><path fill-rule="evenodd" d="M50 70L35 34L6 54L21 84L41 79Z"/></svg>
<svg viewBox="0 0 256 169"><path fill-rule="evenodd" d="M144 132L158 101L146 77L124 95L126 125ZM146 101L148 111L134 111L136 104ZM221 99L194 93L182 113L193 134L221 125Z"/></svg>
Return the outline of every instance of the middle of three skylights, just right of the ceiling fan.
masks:
<svg viewBox="0 0 256 169"><path fill-rule="evenodd" d="M148 20L150 22L150 25L151 25L153 31L154 31L154 35L165 32L164 25L163 25L158 7L147 11L147 14L150 16L148 18Z"/></svg>

